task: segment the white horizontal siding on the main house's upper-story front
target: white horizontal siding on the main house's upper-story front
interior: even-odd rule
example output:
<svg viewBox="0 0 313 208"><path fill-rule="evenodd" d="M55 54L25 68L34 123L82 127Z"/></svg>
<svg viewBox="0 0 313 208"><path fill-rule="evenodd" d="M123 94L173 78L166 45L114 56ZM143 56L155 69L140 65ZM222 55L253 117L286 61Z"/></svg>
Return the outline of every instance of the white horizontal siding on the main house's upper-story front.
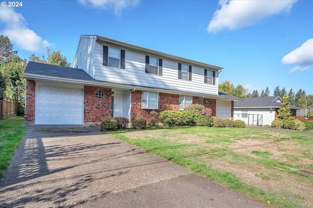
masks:
<svg viewBox="0 0 313 208"><path fill-rule="evenodd" d="M178 62L161 57L157 58L163 60L162 76L145 73L146 55L149 54L125 50L125 69L103 66L103 45L96 43L93 60L95 65L94 79L146 87L218 94L218 77L216 77L215 85L204 83L204 68L195 65L192 65L192 81L178 79ZM218 75L217 71L216 75Z"/></svg>

